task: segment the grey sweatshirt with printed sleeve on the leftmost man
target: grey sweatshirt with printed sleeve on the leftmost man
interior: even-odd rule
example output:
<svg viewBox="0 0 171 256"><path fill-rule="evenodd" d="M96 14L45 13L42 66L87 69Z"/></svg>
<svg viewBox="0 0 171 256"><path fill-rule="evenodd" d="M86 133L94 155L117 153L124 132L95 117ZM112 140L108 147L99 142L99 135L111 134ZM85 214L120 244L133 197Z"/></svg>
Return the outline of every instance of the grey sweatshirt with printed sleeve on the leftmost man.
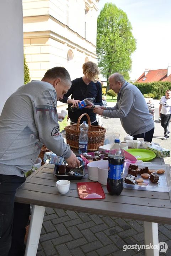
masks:
<svg viewBox="0 0 171 256"><path fill-rule="evenodd" d="M0 174L23 176L45 144L58 156L71 150L59 132L57 94L48 82L31 81L6 101L0 116Z"/></svg>

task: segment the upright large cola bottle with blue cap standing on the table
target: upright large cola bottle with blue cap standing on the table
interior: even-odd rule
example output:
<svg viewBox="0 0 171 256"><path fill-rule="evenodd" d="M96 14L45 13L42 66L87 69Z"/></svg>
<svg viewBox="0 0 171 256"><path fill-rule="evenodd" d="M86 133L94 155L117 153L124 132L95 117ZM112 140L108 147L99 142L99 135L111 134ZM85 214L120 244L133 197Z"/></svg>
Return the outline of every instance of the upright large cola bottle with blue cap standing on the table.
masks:
<svg viewBox="0 0 171 256"><path fill-rule="evenodd" d="M108 178L107 191L109 194L119 196L123 190L123 166L125 154L119 139L114 140L114 144L108 154Z"/></svg>

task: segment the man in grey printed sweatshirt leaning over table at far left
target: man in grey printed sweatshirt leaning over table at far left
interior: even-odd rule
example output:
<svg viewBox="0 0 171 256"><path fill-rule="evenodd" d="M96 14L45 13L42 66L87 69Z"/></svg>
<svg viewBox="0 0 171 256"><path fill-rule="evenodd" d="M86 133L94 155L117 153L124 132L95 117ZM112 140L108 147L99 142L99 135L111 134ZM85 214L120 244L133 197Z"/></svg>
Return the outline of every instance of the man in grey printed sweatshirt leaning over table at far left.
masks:
<svg viewBox="0 0 171 256"><path fill-rule="evenodd" d="M54 67L42 81L22 85L4 105L0 116L0 256L24 256L30 206L14 203L15 193L42 145L64 157L70 167L80 164L59 132L57 100L70 86L68 71Z"/></svg>

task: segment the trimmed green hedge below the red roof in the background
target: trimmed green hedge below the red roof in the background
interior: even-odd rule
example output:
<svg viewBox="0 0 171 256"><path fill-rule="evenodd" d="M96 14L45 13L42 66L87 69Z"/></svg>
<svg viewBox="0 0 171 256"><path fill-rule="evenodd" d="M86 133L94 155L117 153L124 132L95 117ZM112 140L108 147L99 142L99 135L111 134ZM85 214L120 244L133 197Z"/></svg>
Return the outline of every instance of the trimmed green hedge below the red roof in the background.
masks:
<svg viewBox="0 0 171 256"><path fill-rule="evenodd" d="M171 90L171 82L169 81L157 81L149 83L134 83L135 86L144 94L153 94L155 99L160 99L165 95L166 90Z"/></svg>

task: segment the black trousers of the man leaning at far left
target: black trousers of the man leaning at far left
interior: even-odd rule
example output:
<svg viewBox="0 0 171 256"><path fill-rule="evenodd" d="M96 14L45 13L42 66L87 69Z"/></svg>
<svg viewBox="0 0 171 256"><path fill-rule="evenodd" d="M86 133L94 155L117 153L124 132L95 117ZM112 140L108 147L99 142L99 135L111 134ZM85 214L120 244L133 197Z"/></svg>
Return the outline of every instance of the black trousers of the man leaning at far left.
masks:
<svg viewBox="0 0 171 256"><path fill-rule="evenodd" d="M15 203L25 177L0 174L0 256L24 256L24 238L30 205Z"/></svg>

